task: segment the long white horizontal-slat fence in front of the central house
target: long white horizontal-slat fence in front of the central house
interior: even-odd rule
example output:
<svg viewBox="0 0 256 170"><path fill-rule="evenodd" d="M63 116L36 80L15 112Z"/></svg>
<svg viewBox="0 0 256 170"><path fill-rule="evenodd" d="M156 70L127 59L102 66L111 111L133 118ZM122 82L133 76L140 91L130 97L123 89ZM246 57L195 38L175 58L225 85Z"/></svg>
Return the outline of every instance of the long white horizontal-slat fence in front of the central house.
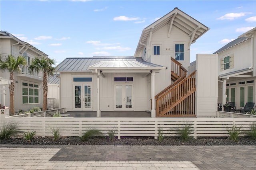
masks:
<svg viewBox="0 0 256 170"><path fill-rule="evenodd" d="M242 126L242 131L250 129L256 123L256 117L250 118L123 118L123 117L10 117L5 121L18 124L20 130L36 131L37 136L52 136L50 127L58 128L62 136L82 136L88 129L98 129L107 135L108 130L116 130L116 136L158 136L161 129L165 136L176 136L177 128L188 124L193 129L193 137L228 136L226 127L233 124ZM3 121L1 121L3 123Z"/></svg>

